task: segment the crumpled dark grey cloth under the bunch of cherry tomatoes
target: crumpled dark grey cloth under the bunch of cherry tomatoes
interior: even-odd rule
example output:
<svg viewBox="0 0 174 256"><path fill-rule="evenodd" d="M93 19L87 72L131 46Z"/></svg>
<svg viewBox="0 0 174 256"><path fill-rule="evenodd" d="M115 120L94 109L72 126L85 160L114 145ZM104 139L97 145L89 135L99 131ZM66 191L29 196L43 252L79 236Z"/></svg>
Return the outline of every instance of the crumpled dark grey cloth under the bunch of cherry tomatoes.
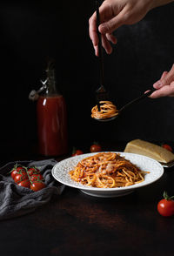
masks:
<svg viewBox="0 0 174 256"><path fill-rule="evenodd" d="M10 170L16 164L26 167L37 166L43 175L46 187L34 192L29 188L17 185L10 177ZM51 169L56 164L56 160L47 159L41 161L17 161L3 165L0 168L0 220L34 212L38 206L49 202L52 195L60 195L64 191L64 185L58 183L51 175Z"/></svg>

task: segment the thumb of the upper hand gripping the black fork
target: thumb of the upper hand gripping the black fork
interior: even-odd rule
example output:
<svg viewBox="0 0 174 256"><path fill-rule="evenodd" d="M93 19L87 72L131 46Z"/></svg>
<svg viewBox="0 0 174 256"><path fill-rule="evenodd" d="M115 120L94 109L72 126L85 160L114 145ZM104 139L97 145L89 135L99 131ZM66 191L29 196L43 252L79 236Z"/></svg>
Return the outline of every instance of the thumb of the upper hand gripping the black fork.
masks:
<svg viewBox="0 0 174 256"><path fill-rule="evenodd" d="M113 17L109 21L103 24L100 24L98 27L98 30L100 31L101 34L106 34L106 33L111 34L123 24L124 24L124 16L120 12L116 17Z"/></svg>

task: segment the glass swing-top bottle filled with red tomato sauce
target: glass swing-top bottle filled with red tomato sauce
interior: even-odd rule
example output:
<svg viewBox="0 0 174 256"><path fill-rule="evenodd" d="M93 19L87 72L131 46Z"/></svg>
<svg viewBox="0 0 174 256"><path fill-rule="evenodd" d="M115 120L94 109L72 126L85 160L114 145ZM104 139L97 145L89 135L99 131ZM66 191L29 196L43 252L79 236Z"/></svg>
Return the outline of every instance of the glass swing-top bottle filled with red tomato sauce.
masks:
<svg viewBox="0 0 174 256"><path fill-rule="evenodd" d="M57 91L54 64L48 64L45 90L37 99L38 150L44 156L68 152L67 111L63 95Z"/></svg>

